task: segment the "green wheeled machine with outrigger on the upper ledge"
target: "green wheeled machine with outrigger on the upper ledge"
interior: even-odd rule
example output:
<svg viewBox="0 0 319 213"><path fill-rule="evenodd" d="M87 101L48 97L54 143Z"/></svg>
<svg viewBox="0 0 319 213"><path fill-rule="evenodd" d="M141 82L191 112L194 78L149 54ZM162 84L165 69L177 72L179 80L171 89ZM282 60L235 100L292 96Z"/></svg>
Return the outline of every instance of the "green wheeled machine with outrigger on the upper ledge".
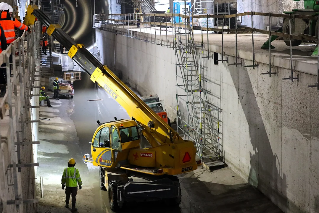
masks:
<svg viewBox="0 0 319 213"><path fill-rule="evenodd" d="M299 2L300 0L293 0ZM284 11L285 14L292 15L307 15L307 16L317 16L319 14L319 0L304 0L305 9L293 9L292 11ZM317 20L305 20L305 19L291 19L291 34L300 35L300 33L318 36L318 24ZM284 18L283 26L280 27L276 32L287 33L289 34L289 19ZM268 39L263 46L262 49L268 49L271 42L277 39L279 36L272 35L270 40ZM290 46L290 42L288 38L284 37L284 41L286 45ZM292 39L291 46L296 47L301 44L302 40ZM271 45L271 49L275 48ZM318 55L318 47L315 49L313 56Z"/></svg>

